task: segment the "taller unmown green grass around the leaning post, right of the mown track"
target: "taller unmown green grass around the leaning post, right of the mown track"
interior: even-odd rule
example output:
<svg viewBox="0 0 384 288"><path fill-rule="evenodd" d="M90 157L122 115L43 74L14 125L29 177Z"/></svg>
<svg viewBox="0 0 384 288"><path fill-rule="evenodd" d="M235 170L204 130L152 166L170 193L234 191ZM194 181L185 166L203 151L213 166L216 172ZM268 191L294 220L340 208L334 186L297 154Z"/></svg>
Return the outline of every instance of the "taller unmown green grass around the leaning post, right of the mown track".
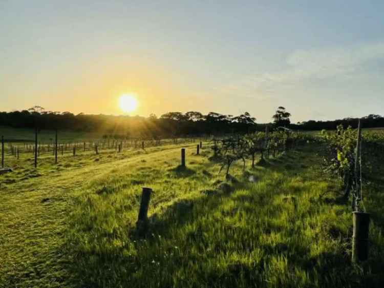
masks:
<svg viewBox="0 0 384 288"><path fill-rule="evenodd" d="M164 157L93 181L71 216L74 271L92 287L375 286L383 246L373 243L376 259L365 265L351 263L351 213L332 193L321 197L338 183L313 148L236 167L233 193L216 190L223 177L204 157L184 174ZM155 191L146 238L135 233L140 186ZM380 243L381 229L371 230Z"/></svg>

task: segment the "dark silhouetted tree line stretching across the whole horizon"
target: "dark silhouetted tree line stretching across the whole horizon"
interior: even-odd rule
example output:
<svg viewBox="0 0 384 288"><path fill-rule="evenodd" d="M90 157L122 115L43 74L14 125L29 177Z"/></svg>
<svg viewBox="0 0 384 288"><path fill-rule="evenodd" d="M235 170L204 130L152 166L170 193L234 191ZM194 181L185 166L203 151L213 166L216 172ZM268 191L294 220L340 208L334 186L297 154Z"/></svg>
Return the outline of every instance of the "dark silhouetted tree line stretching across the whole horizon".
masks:
<svg viewBox="0 0 384 288"><path fill-rule="evenodd" d="M81 132L103 131L106 135L124 137L176 137L186 135L222 135L229 133L252 133L264 131L266 126L286 127L293 130L335 130L337 126L357 126L357 118L344 118L329 121L303 121L291 124L291 114L279 107L273 120L267 124L257 124L255 117L248 112L238 116L209 112L204 115L197 111L168 112L160 117L151 114L141 116L114 115L74 115L70 112L52 112L35 106L28 110L0 112L0 126L13 128L59 129ZM370 114L362 118L365 128L384 127L384 117Z"/></svg>

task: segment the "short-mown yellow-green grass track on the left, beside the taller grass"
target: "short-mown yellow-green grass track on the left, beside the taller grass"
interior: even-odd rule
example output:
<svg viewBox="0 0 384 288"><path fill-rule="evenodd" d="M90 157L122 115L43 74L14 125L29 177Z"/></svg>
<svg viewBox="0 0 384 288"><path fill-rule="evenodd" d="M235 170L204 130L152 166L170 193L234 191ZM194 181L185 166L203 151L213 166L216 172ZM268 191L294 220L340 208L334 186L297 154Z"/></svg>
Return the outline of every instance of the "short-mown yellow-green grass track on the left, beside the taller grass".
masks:
<svg viewBox="0 0 384 288"><path fill-rule="evenodd" d="M72 256L65 253L65 237L75 197L93 177L148 155L175 153L175 149L65 156L57 166L52 157L46 157L39 160L37 170L27 156L9 161L14 172L0 175L0 287L70 285L66 263Z"/></svg>

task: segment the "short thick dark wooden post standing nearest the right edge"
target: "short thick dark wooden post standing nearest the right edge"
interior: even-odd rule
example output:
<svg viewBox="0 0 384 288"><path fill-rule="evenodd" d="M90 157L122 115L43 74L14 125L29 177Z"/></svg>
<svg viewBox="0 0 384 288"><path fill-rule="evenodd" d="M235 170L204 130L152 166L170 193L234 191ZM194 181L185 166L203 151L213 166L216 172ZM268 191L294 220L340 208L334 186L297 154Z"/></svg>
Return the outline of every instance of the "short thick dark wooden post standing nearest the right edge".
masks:
<svg viewBox="0 0 384 288"><path fill-rule="evenodd" d="M353 212L352 262L368 259L369 213Z"/></svg>

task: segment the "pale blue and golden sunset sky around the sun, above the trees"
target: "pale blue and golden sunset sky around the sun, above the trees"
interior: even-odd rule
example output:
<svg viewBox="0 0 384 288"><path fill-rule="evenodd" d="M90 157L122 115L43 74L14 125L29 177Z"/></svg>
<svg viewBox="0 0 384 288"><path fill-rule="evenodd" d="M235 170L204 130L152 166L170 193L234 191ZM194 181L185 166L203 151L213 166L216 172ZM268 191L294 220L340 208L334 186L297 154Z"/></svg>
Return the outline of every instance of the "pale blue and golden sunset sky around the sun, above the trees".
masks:
<svg viewBox="0 0 384 288"><path fill-rule="evenodd" d="M0 0L0 111L384 115L384 1Z"/></svg>

